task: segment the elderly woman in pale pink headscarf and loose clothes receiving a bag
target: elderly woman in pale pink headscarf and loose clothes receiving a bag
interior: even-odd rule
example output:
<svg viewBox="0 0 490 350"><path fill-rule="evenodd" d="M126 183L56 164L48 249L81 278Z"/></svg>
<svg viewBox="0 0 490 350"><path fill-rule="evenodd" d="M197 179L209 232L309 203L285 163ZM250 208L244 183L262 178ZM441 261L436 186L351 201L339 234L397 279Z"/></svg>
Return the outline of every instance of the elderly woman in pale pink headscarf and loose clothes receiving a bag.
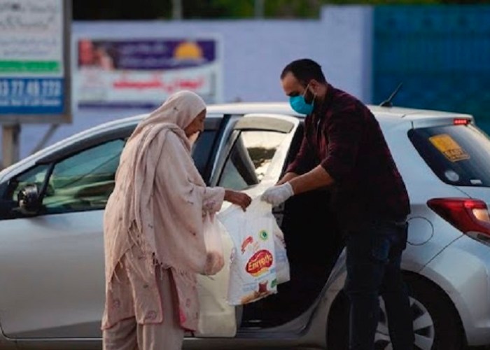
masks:
<svg viewBox="0 0 490 350"><path fill-rule="evenodd" d="M196 274L214 274L203 218L223 200L246 209L251 198L207 187L190 150L204 129L197 94L173 94L132 133L104 213L106 350L181 349L199 313Z"/></svg>

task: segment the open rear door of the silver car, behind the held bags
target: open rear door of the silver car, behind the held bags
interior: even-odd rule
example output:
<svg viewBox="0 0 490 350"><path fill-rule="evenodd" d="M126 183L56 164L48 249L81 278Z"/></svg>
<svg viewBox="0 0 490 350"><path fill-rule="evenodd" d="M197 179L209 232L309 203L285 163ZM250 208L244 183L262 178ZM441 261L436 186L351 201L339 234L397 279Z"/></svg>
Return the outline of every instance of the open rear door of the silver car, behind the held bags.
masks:
<svg viewBox="0 0 490 350"><path fill-rule="evenodd" d="M211 185L241 190L251 197L260 195L281 176L299 123L297 118L276 114L232 116L232 127L219 146ZM225 202L222 211L229 205ZM242 307L233 307L226 299L233 248L228 234L223 235L223 244L223 270L215 276L198 277L201 321L207 324L200 324L204 333L195 332L195 337L235 337L241 323Z"/></svg>

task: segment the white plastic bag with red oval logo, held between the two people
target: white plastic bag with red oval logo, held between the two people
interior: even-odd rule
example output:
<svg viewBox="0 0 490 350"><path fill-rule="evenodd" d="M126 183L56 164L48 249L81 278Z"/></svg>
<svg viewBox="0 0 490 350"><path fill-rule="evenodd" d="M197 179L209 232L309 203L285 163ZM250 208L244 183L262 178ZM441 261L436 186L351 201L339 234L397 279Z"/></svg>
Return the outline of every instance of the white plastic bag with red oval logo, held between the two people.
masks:
<svg viewBox="0 0 490 350"><path fill-rule="evenodd" d="M252 200L246 211L232 206L218 214L232 237L228 302L255 302L277 293L272 206Z"/></svg>

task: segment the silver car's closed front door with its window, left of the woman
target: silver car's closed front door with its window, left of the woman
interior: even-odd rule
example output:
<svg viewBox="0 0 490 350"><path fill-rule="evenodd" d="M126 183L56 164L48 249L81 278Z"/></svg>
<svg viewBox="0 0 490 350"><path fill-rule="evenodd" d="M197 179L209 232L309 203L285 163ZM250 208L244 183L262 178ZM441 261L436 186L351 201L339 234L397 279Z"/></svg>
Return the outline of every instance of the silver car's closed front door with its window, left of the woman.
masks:
<svg viewBox="0 0 490 350"><path fill-rule="evenodd" d="M0 320L12 338L100 337L102 215L124 138L59 150L9 181L3 200L45 186L41 211L0 221Z"/></svg>

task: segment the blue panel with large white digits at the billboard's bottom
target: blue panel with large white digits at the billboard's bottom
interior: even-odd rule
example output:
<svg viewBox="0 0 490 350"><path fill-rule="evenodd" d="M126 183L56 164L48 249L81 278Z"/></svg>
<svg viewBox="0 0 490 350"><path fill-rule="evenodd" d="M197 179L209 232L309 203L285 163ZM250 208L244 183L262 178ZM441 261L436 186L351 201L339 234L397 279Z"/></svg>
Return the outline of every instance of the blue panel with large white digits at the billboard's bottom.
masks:
<svg viewBox="0 0 490 350"><path fill-rule="evenodd" d="M64 113L63 78L0 78L0 114Z"/></svg>

